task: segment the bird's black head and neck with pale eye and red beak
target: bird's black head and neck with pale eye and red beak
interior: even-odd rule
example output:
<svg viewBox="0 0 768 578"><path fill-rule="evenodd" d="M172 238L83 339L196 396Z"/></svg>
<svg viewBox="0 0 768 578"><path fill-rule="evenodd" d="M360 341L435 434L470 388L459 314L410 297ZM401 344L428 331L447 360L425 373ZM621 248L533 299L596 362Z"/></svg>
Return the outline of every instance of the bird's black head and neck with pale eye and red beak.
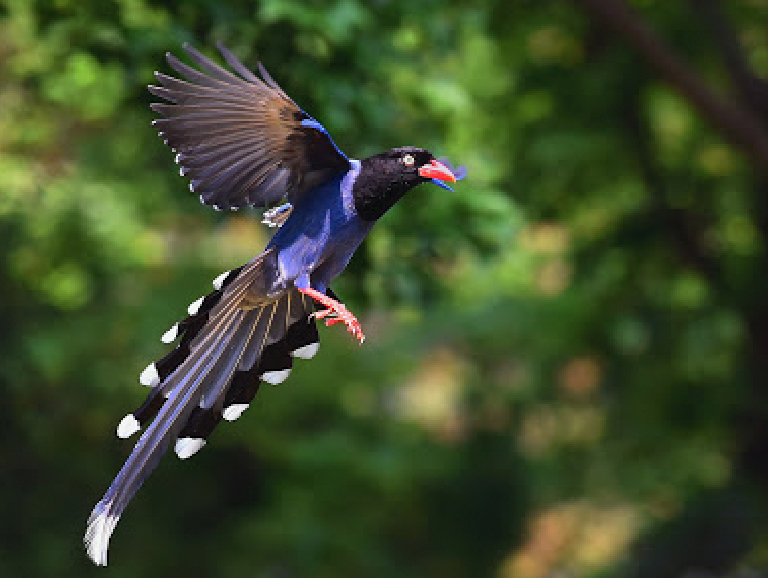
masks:
<svg viewBox="0 0 768 578"><path fill-rule="evenodd" d="M399 147L361 161L352 187L355 210L366 221L375 221L416 185L455 182L451 169L428 150Z"/></svg>

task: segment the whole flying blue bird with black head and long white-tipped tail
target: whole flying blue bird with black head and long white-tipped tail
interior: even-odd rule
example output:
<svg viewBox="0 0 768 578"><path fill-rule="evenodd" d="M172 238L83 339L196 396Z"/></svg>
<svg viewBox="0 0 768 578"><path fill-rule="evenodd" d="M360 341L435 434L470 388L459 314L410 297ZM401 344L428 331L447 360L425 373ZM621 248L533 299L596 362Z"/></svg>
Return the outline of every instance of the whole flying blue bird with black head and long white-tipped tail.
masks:
<svg viewBox="0 0 768 578"><path fill-rule="evenodd" d="M152 122L175 153L179 172L200 201L217 210L268 209L276 232L248 263L213 281L187 316L162 336L175 347L139 381L146 400L117 427L142 431L87 522L84 545L107 565L123 511L166 451L199 451L213 429L248 408L262 382L279 384L294 359L318 351L317 322L343 324L363 343L360 322L329 287L373 225L409 190L434 183L450 190L466 175L423 148L404 146L356 160L299 107L261 63L259 75L221 43L229 68L184 44L191 66L166 53L181 77L155 72Z"/></svg>

